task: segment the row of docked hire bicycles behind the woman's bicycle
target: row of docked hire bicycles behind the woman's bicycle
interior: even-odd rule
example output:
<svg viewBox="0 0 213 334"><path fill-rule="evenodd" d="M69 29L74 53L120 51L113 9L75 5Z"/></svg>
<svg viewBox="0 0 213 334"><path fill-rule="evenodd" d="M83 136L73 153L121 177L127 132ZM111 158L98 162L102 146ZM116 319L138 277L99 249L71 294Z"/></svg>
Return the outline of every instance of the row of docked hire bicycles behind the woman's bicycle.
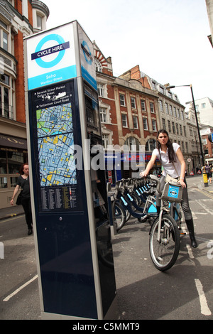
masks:
<svg viewBox="0 0 213 334"><path fill-rule="evenodd" d="M160 193L160 179L151 175L147 178L128 178L116 181L115 187L107 184L107 193L112 200L112 212L116 231L119 232L130 217L150 225L158 216L156 208L156 191ZM181 224L180 203L163 200L164 211L170 212L178 226Z"/></svg>

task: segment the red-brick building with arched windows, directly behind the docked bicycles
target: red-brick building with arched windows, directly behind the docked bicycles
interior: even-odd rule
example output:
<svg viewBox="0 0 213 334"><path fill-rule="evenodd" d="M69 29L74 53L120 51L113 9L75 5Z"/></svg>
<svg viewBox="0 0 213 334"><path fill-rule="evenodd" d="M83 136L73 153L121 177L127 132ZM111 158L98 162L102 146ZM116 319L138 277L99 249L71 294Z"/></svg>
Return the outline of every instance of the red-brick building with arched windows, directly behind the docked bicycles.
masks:
<svg viewBox="0 0 213 334"><path fill-rule="evenodd" d="M94 55L102 138L105 153L111 156L106 173L114 183L120 178L136 176L136 168L144 168L143 158L146 161L151 158L160 126L158 93L151 89L146 77L138 75L138 65L114 77L111 58L105 58L95 42ZM139 154L141 150L145 150L144 156ZM124 166L128 161L129 168ZM160 163L156 167L160 168Z"/></svg>

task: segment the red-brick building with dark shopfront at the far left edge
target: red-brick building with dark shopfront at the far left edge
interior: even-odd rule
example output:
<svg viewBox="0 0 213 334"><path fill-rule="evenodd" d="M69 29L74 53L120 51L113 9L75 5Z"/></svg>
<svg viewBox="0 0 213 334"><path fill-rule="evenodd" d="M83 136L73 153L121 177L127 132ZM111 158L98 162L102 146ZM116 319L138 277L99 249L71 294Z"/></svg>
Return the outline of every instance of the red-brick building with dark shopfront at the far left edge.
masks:
<svg viewBox="0 0 213 334"><path fill-rule="evenodd" d="M44 30L48 16L42 1L0 0L0 208L27 161L23 38Z"/></svg>

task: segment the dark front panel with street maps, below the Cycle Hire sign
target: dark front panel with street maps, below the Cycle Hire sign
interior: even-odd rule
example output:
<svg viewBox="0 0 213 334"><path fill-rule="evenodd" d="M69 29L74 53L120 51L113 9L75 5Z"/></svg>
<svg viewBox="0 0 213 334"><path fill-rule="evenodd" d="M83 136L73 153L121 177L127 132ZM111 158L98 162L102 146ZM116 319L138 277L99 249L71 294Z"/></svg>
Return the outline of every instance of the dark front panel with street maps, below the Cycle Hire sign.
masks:
<svg viewBox="0 0 213 334"><path fill-rule="evenodd" d="M75 159L75 145L82 147L75 87L74 79L29 92L43 308L97 318L84 171Z"/></svg>

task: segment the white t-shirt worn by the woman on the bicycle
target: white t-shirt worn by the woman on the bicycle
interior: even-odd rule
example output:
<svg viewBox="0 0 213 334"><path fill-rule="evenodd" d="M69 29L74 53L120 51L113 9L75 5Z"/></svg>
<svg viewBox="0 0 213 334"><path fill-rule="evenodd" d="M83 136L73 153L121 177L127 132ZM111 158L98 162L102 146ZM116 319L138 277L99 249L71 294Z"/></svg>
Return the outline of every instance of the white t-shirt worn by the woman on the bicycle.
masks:
<svg viewBox="0 0 213 334"><path fill-rule="evenodd" d="M157 156L157 158L160 160L161 158L161 165L163 166L163 176L166 176L166 174L169 174L170 176L172 176L173 178L178 178L178 176L180 176L180 172L181 172L181 164L180 164L180 161L178 160L178 156L176 154L176 152L178 151L180 145L178 145L177 143L173 143L173 149L174 149L174 152L175 152L175 160L176 162L170 162L169 161L169 157L168 157L168 149L166 151L166 153L164 153L163 151L161 151L160 149L160 154L159 154L159 151L158 149L154 149L153 151L153 154L155 156ZM174 165L175 167L174 167ZM175 168L178 172L178 175L177 175L177 172L175 171Z"/></svg>

